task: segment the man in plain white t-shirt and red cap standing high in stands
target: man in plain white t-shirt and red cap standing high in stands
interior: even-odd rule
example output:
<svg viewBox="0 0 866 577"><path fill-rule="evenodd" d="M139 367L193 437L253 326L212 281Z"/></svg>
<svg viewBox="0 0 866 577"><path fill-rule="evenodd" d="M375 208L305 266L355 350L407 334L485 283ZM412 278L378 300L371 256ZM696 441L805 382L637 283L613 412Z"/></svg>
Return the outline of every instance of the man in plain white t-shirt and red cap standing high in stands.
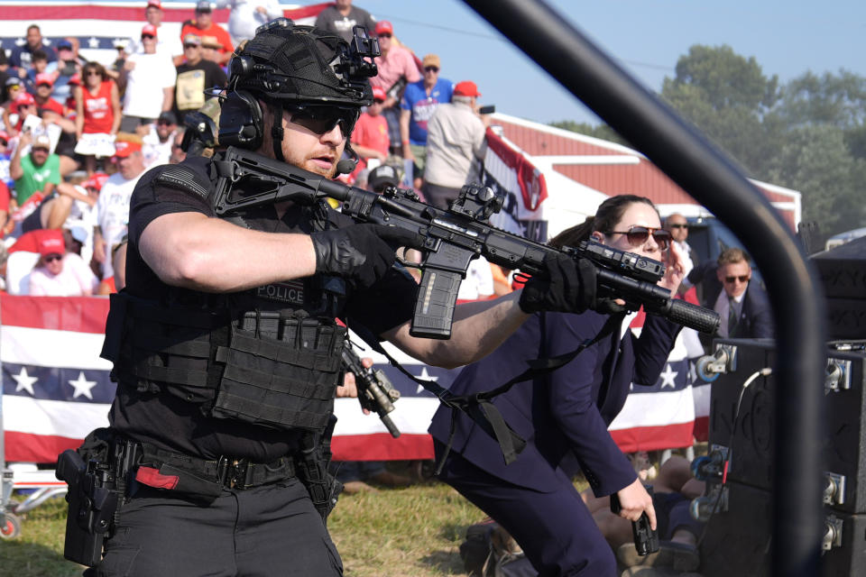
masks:
<svg viewBox="0 0 866 577"><path fill-rule="evenodd" d="M120 130L131 133L144 124L153 124L174 102L177 72L165 54L156 51L156 27L142 29L143 52L131 54L124 64L126 91Z"/></svg>

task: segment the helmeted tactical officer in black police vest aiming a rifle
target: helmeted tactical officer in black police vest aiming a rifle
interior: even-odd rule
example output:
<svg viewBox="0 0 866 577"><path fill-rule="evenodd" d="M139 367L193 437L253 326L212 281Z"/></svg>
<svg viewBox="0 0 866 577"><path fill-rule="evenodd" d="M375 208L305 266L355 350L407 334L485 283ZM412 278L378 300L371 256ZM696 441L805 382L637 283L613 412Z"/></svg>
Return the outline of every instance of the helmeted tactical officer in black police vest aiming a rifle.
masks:
<svg viewBox="0 0 866 577"><path fill-rule="evenodd" d="M235 52L220 144L333 177L373 101L357 45L284 19L261 27ZM551 260L522 294L458 307L450 340L413 338L417 285L393 266L412 237L324 203L217 218L225 171L218 152L189 157L145 174L132 197L127 285L106 327L111 428L86 442L106 440L129 471L99 575L342 574L322 515L334 489L309 458L341 377L335 319L456 367L502 343L524 310L594 298L594 271Z"/></svg>

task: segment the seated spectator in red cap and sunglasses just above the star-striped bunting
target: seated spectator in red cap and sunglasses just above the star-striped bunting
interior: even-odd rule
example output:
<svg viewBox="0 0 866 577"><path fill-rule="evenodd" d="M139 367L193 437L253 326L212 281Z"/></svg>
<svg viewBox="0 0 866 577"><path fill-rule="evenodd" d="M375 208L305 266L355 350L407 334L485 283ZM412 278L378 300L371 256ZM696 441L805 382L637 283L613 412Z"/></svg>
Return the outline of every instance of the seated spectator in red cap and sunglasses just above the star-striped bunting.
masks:
<svg viewBox="0 0 866 577"><path fill-rule="evenodd" d="M30 274L33 297L87 297L99 283L93 271L74 252L66 252L60 231L43 237L39 261Z"/></svg>

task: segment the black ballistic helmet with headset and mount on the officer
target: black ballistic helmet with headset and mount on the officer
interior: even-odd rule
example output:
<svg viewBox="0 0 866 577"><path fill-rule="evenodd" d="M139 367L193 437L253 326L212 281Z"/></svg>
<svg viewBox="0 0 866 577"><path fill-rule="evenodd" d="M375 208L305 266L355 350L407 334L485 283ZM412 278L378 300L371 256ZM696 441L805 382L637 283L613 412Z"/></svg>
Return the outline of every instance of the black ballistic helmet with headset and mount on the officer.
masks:
<svg viewBox="0 0 866 577"><path fill-rule="evenodd" d="M220 114L219 142L257 149L263 136L258 100L274 118L293 105L334 105L351 109L373 103L367 78L377 73L379 43L361 26L350 45L336 34L296 26L277 18L260 26L252 40L235 50ZM282 128L272 127L273 151L282 158Z"/></svg>

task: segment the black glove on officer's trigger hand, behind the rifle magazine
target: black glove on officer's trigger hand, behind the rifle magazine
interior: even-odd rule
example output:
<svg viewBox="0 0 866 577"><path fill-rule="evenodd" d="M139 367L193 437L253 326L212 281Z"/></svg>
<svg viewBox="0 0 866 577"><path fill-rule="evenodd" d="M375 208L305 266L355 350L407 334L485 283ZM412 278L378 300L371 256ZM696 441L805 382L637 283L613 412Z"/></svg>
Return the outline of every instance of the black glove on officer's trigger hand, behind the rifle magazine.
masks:
<svg viewBox="0 0 866 577"><path fill-rule="evenodd" d="M309 235L316 251L316 272L333 274L366 289L381 279L400 246L419 246L418 234L383 224L353 224Z"/></svg>

